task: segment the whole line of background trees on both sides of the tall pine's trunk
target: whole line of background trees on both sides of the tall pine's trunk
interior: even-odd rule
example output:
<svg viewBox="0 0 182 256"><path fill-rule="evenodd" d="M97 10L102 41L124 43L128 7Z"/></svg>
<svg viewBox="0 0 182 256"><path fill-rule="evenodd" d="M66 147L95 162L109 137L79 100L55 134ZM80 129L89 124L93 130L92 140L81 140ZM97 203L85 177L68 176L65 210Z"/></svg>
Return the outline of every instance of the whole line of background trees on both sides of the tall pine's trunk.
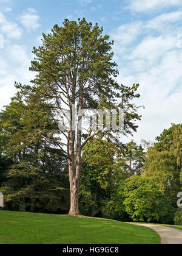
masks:
<svg viewBox="0 0 182 256"><path fill-rule="evenodd" d="M19 94L0 114L0 184L5 210L68 213L67 156L53 141L33 137L54 124L41 108L31 110ZM100 151L81 169L79 210L82 215L126 221L172 223L181 191L181 124L172 124L147 151L134 142L122 147L103 140ZM83 154L98 147L90 141ZM135 185L135 186L134 186ZM134 187L133 187L134 186ZM179 219L181 211L176 213Z"/></svg>

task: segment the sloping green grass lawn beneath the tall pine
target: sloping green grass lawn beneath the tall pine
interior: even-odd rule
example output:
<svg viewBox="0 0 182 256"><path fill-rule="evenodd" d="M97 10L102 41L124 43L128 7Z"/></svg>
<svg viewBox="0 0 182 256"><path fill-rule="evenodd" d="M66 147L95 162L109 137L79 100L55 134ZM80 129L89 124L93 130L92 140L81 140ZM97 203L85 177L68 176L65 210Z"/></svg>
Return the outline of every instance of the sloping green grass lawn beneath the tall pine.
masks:
<svg viewBox="0 0 182 256"><path fill-rule="evenodd" d="M0 211L0 244L159 244L146 227L120 221Z"/></svg>

